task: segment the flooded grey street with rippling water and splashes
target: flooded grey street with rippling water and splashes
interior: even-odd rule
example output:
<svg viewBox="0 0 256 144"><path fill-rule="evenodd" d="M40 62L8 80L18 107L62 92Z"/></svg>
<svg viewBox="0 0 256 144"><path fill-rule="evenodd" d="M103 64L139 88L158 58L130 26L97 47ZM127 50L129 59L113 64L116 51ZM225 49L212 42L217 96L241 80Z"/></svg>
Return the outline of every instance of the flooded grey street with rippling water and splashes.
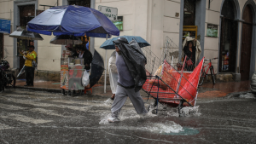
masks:
<svg viewBox="0 0 256 144"><path fill-rule="evenodd" d="M145 100L144 100L145 101ZM146 101L145 101L146 102ZM149 100L145 106L154 102ZM9 89L0 94L0 143L254 143L256 99L198 99L194 108L166 107L137 115L126 101L120 122L109 124L112 101ZM160 110L164 106L159 106Z"/></svg>

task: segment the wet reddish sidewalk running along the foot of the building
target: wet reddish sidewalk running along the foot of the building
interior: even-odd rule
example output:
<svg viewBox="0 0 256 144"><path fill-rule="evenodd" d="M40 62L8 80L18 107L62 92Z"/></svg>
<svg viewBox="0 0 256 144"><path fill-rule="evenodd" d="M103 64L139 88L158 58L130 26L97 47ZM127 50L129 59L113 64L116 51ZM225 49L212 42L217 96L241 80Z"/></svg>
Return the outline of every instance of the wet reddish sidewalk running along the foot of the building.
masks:
<svg viewBox="0 0 256 144"><path fill-rule="evenodd" d="M25 80L17 80L16 87L21 89L32 89L38 91L48 91L61 93L60 83L51 81L35 81L33 87L24 87ZM92 88L92 95L100 95L110 97L112 95L110 86L107 85L107 93L104 93L104 86L102 84L96 84ZM204 83L199 87L198 98L214 98L224 97L230 93L248 92L250 91L250 81L241 82L218 82L215 85L212 83ZM142 95L146 96L143 91Z"/></svg>

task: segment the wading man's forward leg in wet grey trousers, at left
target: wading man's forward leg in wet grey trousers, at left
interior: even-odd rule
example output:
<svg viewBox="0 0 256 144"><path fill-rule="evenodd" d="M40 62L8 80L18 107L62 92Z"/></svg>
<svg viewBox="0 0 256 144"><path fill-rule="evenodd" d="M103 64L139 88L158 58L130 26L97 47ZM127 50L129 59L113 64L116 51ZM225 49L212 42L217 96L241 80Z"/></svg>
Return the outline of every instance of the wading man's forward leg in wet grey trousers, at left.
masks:
<svg viewBox="0 0 256 144"><path fill-rule="evenodd" d="M112 118L118 118L119 112L121 111L121 108L124 106L126 99L127 94L125 88L118 85L116 88L116 93L111 108Z"/></svg>

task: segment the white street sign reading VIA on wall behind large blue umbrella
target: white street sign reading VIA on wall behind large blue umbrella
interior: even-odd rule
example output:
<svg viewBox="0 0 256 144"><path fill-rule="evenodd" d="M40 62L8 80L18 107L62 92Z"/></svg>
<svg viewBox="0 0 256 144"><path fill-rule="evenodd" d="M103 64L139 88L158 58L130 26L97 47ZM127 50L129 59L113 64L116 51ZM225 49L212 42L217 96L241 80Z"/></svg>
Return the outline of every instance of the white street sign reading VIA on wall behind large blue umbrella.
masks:
<svg viewBox="0 0 256 144"><path fill-rule="evenodd" d="M118 15L117 8L111 8L111 7L99 5L98 9L102 14L105 14L109 20L111 21L117 20L117 15Z"/></svg>

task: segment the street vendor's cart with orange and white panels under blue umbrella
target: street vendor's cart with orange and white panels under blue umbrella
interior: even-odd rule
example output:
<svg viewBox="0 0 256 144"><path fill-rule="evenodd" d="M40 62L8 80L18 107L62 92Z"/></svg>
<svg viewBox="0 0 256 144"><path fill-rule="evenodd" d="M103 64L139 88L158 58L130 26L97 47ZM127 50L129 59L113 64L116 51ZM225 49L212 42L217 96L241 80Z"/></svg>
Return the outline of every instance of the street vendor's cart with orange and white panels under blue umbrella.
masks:
<svg viewBox="0 0 256 144"><path fill-rule="evenodd" d="M81 64L84 64L84 59L61 58L61 93L63 95L66 90L68 95L72 95L75 90L79 90L81 95L84 94L82 77L85 69Z"/></svg>

